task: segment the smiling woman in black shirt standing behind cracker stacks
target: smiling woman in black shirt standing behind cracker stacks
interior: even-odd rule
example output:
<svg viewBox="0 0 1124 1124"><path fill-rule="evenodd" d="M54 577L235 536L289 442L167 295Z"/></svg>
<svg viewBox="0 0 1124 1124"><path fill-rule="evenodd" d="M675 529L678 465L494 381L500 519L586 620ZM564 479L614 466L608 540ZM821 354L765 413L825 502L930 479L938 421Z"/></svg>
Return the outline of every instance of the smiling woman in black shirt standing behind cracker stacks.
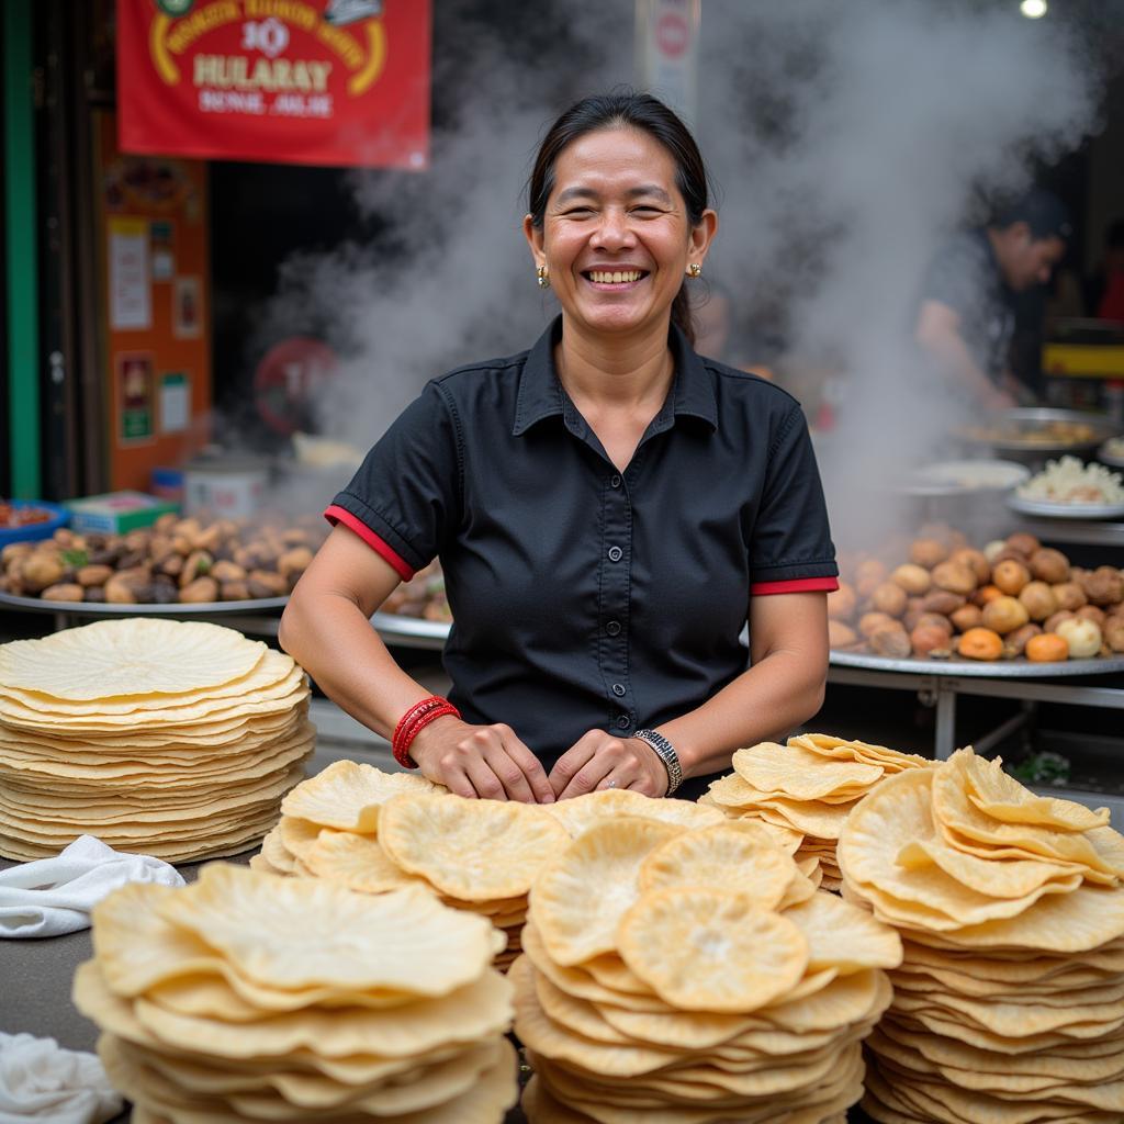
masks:
<svg viewBox="0 0 1124 1124"><path fill-rule="evenodd" d="M281 643L462 796L700 790L823 696L837 571L807 425L691 346L688 285L718 219L671 110L578 102L528 189L534 277L560 316L531 351L430 382L371 450ZM447 700L369 625L435 556Z"/></svg>

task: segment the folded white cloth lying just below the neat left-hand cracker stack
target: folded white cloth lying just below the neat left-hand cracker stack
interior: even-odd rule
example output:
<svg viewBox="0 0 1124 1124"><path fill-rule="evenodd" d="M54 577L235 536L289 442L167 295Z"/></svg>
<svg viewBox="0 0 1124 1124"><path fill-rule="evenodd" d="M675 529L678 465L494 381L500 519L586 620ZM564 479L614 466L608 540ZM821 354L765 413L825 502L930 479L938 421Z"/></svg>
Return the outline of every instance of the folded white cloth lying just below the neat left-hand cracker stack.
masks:
<svg viewBox="0 0 1124 1124"><path fill-rule="evenodd" d="M182 886L180 872L80 835L54 859L0 870L0 936L60 936L90 927L90 910L126 882Z"/></svg>

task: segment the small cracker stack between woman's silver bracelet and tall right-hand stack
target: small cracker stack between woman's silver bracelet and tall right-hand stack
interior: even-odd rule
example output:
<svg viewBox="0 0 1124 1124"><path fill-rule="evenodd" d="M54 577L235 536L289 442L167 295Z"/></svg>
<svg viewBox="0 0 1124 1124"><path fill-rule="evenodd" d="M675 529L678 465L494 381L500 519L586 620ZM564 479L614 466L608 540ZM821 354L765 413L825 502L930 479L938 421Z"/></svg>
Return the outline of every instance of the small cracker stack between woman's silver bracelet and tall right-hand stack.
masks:
<svg viewBox="0 0 1124 1124"><path fill-rule="evenodd" d="M828 734L800 734L787 745L738 750L734 772L715 781L700 804L733 818L760 819L797 839L796 854L818 860L822 885L839 890L835 845L851 809L885 778L932 761Z"/></svg>

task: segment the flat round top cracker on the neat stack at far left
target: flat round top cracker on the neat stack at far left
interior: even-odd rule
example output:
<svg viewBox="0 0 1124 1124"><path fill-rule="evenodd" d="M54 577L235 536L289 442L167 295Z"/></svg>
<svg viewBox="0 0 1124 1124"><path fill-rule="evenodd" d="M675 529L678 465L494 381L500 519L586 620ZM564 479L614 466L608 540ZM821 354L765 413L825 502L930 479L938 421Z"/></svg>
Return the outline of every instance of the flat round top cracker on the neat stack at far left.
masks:
<svg viewBox="0 0 1124 1124"><path fill-rule="evenodd" d="M69 701L218 687L250 674L261 641L198 620L127 617L0 645L0 685Z"/></svg>

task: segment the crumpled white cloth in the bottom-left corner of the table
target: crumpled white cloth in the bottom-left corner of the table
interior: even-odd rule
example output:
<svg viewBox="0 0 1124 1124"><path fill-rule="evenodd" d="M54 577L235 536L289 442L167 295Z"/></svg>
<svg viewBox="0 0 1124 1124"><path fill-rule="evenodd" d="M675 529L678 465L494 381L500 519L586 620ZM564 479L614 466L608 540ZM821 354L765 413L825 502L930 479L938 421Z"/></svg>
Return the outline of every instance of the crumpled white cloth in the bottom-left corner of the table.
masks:
<svg viewBox="0 0 1124 1124"><path fill-rule="evenodd" d="M102 1124L123 1108L94 1054L0 1033L0 1124Z"/></svg>

